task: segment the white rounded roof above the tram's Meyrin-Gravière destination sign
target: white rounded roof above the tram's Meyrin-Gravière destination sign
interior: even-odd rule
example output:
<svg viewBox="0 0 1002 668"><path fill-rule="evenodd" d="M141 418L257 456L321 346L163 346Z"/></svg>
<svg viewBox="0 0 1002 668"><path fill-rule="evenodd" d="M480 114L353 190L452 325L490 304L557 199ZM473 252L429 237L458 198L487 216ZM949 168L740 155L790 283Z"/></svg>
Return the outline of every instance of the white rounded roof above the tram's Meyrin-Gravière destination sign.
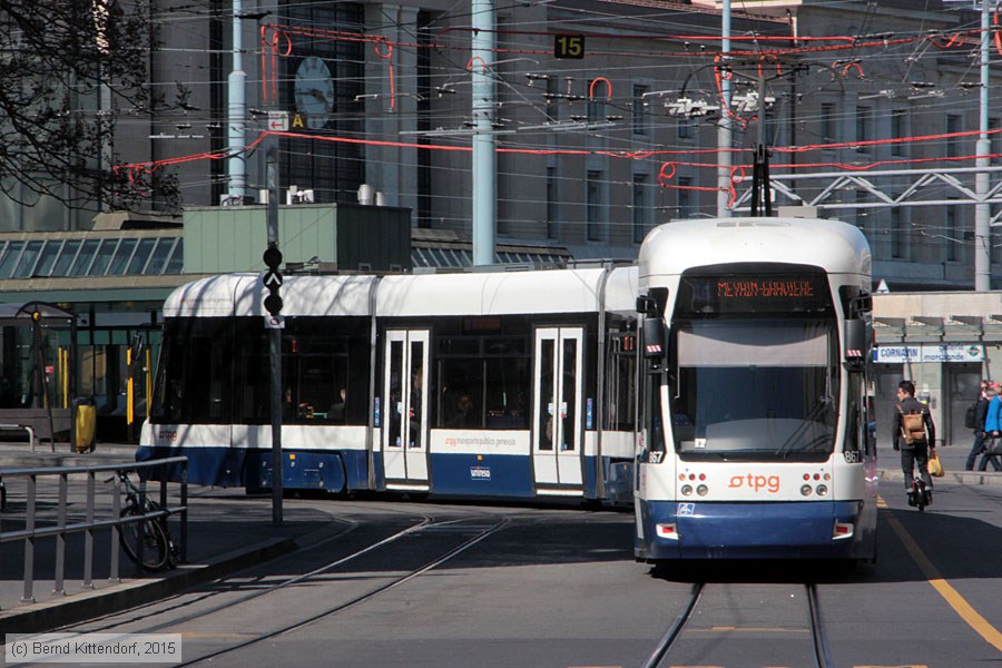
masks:
<svg viewBox="0 0 1002 668"><path fill-rule="evenodd" d="M823 267L831 274L871 274L863 233L817 218L696 218L656 227L640 246L641 279L699 266L776 262Z"/></svg>

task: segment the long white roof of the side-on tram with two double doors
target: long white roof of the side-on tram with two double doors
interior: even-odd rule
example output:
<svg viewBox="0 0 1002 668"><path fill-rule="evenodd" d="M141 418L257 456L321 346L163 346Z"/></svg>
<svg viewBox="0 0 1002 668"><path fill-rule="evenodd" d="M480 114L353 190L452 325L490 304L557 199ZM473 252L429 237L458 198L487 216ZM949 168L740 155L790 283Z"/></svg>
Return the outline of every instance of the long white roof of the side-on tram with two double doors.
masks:
<svg viewBox="0 0 1002 668"><path fill-rule="evenodd" d="M286 276L281 289L284 315L370 315L379 282L381 316L588 313L598 310L603 268L527 272L402 274L387 276ZM291 289L295 286L296 289ZM637 295L637 267L617 267L606 278L606 308L629 311ZM261 274L212 276L174 291L166 317L264 315Z"/></svg>

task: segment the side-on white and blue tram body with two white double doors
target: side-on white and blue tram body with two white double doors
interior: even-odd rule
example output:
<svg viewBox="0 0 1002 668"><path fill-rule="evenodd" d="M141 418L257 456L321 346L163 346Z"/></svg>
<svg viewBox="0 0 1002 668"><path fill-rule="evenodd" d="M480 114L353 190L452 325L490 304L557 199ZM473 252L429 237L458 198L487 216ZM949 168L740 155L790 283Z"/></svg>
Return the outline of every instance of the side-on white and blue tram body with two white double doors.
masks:
<svg viewBox="0 0 1002 668"><path fill-rule="evenodd" d="M637 268L289 275L283 488L629 503ZM140 459L271 487L266 294L205 278L164 305Z"/></svg>

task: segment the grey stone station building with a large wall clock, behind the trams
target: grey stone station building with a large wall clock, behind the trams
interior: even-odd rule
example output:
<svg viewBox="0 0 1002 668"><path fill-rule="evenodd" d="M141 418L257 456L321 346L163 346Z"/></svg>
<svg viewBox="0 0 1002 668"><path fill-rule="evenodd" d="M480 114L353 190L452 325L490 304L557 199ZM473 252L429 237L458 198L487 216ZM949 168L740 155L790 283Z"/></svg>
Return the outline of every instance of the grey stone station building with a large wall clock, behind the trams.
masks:
<svg viewBox="0 0 1002 668"><path fill-rule="evenodd" d="M497 88L491 136L499 149L499 240L568 248L579 258L631 257L651 227L717 214L714 151L720 111L713 63L721 4L561 0L499 6L497 58L487 63L471 57L469 10L444 0L245 0L246 140L273 127L275 114L285 115L287 124L279 127L288 132L275 139L283 190L308 190L318 204L354 204L360 188L370 188L385 205L409 209L416 229L469 235L471 85L479 68ZM232 4L210 0L206 7L209 11L189 16L189 6L179 0L150 2L163 48L150 56L149 80L165 104L143 114L118 110L127 121L109 137L109 150L122 164L171 161L164 169L176 174L181 200L164 202L154 193L147 202L153 213L230 199L226 160L177 159L228 146ZM824 36L877 36L876 43L886 38L893 45L897 38L976 26L979 18L961 2L942 0L744 0L733 3L731 12L733 48L746 51L764 49L765 42L738 40L741 36L780 39L768 41L778 49ZM601 30L595 28L596 17L601 17ZM586 35L583 58L559 58L553 37L560 35ZM954 171L964 183L973 179L956 171L956 158L975 153L976 137L882 141L978 129L972 48L922 41L888 46L884 52L867 47L881 57L859 61L852 50L833 50L831 60L808 50L769 68L775 76L767 94L775 101L765 115L767 143L822 147L775 154L775 176L825 169L807 164L921 165L944 173L943 179L932 179L932 202L922 206L893 200L917 174L884 184L891 200L864 180L831 189L831 181L800 181L795 188L806 198L800 200L776 191L777 205L812 204L825 217L855 223L874 249L875 276L895 291L973 286L974 207L950 189L945 173ZM735 59L736 71L745 67L740 60ZM757 63L747 66L745 78L735 77L735 96L748 99L755 86L747 75ZM795 71L796 77L786 76ZM178 81L185 84L184 107L174 99ZM317 90L324 105L316 104ZM672 115L684 98L718 109ZM102 110L100 100L85 102L91 111ZM745 122L735 124L735 165L750 163L758 129L753 117L749 111ZM989 120L1002 127L994 107ZM1002 155L1000 147L1002 141L993 139L993 155ZM261 202L265 153L246 156L242 204ZM874 170L867 176L874 180ZM101 207L94 203L92 210L63 212L48 200L32 207L0 202L0 230L84 230ZM992 246L998 264L1002 244ZM1002 274L993 269L992 279L993 287L1000 285Z"/></svg>

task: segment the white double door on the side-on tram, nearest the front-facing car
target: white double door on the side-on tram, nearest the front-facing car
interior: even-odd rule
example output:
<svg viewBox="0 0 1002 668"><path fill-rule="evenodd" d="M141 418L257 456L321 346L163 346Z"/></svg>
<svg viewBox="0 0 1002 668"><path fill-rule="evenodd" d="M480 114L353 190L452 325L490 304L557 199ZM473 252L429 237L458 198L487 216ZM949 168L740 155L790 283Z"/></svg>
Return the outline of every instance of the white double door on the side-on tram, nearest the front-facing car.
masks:
<svg viewBox="0 0 1002 668"><path fill-rule="evenodd" d="M536 331L532 468L538 488L582 490L582 327Z"/></svg>

